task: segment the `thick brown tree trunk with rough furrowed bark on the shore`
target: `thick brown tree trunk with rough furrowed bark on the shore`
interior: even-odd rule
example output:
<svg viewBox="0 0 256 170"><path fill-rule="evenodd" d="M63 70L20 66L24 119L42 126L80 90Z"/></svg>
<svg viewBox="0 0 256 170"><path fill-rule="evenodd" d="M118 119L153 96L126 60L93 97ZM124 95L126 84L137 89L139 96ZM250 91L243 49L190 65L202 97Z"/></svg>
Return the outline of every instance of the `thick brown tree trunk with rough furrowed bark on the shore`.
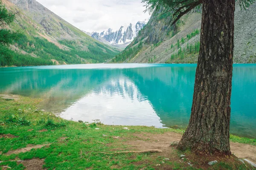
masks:
<svg viewBox="0 0 256 170"><path fill-rule="evenodd" d="M230 152L235 0L203 0L201 45L189 126L178 148Z"/></svg>

